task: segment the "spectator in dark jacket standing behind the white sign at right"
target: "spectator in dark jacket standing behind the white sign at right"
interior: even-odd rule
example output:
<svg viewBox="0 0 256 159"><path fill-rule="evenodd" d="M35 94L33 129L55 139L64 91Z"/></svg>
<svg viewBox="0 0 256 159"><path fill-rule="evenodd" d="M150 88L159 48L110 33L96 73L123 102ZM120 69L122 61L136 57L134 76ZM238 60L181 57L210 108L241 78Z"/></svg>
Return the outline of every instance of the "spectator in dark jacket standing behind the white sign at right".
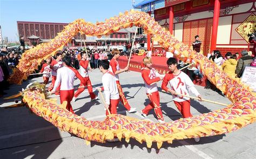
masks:
<svg viewBox="0 0 256 159"><path fill-rule="evenodd" d="M250 66L252 63L253 57L248 55L246 50L241 52L242 57L238 60L237 68L235 69L235 74L240 78L242 76L242 72L244 72L246 66Z"/></svg>

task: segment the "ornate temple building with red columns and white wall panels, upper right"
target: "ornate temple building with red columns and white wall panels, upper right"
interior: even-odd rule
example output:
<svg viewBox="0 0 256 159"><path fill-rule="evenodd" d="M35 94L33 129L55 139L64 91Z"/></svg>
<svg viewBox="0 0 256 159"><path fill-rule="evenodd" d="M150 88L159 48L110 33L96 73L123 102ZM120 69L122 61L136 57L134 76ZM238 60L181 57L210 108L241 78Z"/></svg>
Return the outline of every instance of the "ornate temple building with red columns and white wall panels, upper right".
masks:
<svg viewBox="0 0 256 159"><path fill-rule="evenodd" d="M247 34L256 29L255 0L145 0L134 8L149 13L190 47L199 35L204 54L252 50ZM148 50L150 42L147 36Z"/></svg>

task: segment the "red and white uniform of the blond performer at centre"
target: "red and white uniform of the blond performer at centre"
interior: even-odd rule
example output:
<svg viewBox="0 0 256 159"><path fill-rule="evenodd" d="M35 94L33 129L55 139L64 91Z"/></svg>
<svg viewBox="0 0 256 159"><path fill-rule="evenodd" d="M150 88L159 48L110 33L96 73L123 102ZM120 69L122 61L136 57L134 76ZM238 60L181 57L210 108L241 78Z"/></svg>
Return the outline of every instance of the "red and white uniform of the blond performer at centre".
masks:
<svg viewBox="0 0 256 159"><path fill-rule="evenodd" d="M116 71L119 71L119 70L120 70L120 68L119 68L118 61L117 61L116 59L112 58L112 59L110 60L109 71L111 71L111 72L114 74L114 73L116 73ZM115 79L116 79L116 83L117 83L117 88L118 88L120 100L121 100L121 102L123 103L124 107L125 107L127 110L130 110L130 109L131 109L131 106L129 105L127 99L126 99L125 96L124 96L124 91L123 91L123 89L122 89L122 86L120 85L118 74L114 74L114 77L115 77Z"/></svg>

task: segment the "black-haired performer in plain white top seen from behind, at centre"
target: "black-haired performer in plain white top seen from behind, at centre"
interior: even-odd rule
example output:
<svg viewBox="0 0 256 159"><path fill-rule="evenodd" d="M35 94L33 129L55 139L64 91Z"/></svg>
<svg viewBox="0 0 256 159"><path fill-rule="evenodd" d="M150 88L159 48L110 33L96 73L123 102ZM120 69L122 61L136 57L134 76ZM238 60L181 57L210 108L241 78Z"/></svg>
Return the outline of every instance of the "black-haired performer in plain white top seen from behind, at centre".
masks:
<svg viewBox="0 0 256 159"><path fill-rule="evenodd" d="M117 114L117 106L119 103L119 92L116 84L116 78L114 74L109 71L109 61L99 61L99 70L103 73L102 84L103 87L99 91L105 93L105 108L110 110L111 114ZM109 113L106 110L106 115Z"/></svg>

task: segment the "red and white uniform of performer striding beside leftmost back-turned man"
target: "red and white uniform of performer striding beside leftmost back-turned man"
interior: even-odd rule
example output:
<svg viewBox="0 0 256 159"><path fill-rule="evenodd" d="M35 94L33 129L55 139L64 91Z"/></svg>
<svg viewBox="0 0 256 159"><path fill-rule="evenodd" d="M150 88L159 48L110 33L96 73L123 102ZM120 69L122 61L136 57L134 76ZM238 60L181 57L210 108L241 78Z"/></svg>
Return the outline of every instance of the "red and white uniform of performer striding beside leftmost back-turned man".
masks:
<svg viewBox="0 0 256 159"><path fill-rule="evenodd" d="M91 80L89 78L89 72L88 72L89 61L88 60L80 60L79 65L80 65L79 73L83 77L83 79L85 81L85 85L80 84L80 86L77 89L77 92L75 93L74 96L75 96L75 98L77 98L77 96L84 91L84 89L85 89L84 86L87 86L87 89L88 89L91 99L95 99L96 95L92 91L92 84L91 84Z"/></svg>

